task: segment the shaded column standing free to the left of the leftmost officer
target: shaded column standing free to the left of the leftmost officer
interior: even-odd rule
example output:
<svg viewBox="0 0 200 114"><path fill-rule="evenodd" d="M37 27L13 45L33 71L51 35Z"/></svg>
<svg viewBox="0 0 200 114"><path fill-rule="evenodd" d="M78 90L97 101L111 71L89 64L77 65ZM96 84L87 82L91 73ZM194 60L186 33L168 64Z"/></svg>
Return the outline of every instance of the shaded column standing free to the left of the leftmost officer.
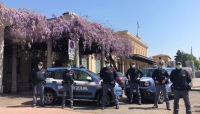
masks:
<svg viewBox="0 0 200 114"><path fill-rule="evenodd" d="M11 93L17 92L17 47L12 45L12 87Z"/></svg>

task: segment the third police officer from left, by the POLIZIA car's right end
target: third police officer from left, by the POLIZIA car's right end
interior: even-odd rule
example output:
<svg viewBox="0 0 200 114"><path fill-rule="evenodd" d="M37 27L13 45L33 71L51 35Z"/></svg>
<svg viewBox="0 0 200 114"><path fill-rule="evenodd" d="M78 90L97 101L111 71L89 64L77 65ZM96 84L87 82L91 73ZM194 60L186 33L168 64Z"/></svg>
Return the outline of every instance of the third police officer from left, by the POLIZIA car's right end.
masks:
<svg viewBox="0 0 200 114"><path fill-rule="evenodd" d="M100 71L100 77L103 79L103 97L101 109L104 110L108 89L110 89L113 99L115 100L116 109L119 109L119 102L114 91L115 78L118 76L116 70L110 67L110 62L106 61L105 63L106 67L102 68Z"/></svg>

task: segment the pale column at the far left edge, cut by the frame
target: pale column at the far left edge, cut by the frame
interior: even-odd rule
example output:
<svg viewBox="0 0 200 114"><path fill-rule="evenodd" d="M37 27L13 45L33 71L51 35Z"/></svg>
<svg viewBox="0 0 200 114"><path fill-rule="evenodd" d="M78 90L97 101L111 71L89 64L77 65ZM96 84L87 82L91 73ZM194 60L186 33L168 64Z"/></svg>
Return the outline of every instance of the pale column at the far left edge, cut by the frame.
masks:
<svg viewBox="0 0 200 114"><path fill-rule="evenodd" d="M3 93L4 27L0 27L0 93Z"/></svg>

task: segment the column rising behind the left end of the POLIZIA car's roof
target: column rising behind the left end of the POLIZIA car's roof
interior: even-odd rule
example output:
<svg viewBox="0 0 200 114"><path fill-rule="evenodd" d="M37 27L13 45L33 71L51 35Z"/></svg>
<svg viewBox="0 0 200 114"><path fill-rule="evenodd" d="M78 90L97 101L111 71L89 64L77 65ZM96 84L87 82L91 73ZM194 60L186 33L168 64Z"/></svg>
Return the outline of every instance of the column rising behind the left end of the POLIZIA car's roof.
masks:
<svg viewBox="0 0 200 114"><path fill-rule="evenodd" d="M52 40L47 41L47 68L52 67Z"/></svg>

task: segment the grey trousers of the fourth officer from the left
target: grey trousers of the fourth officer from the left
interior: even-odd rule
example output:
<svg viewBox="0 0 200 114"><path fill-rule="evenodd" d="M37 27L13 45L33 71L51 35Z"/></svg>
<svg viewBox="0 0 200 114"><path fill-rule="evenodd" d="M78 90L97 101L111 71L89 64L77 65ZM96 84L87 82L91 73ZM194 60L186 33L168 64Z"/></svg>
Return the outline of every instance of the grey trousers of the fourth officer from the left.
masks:
<svg viewBox="0 0 200 114"><path fill-rule="evenodd" d="M130 82L130 102L133 102L133 88L136 89L138 102L141 102L139 83L137 82L136 83Z"/></svg>

